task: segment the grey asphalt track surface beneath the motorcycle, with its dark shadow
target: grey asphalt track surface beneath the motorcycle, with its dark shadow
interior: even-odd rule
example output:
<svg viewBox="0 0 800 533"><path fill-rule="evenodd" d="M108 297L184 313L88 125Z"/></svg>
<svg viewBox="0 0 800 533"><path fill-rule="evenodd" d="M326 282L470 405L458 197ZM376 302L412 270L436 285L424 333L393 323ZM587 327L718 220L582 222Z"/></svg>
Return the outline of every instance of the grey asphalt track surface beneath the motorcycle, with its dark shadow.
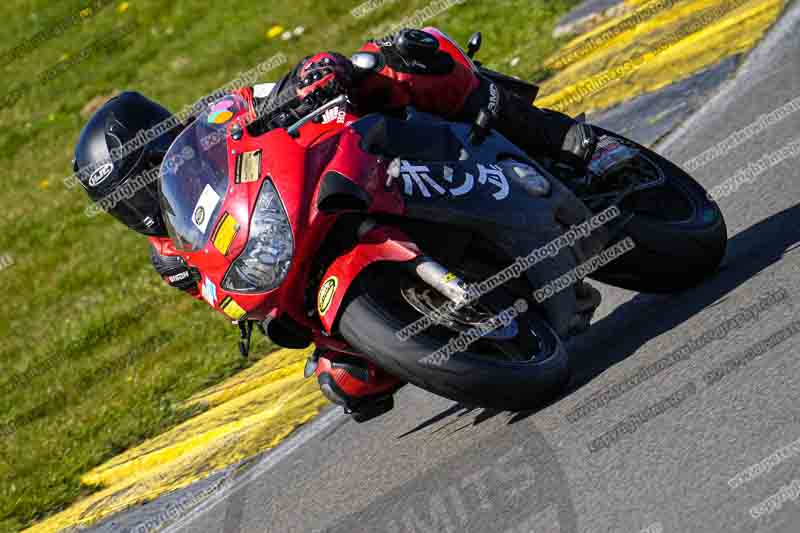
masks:
<svg viewBox="0 0 800 533"><path fill-rule="evenodd" d="M685 162L797 98L799 26L795 3L660 151ZM694 175L714 187L798 135L800 109ZM720 200L730 244L703 286L601 287L598 320L571 345L574 383L554 404L498 413L406 387L366 424L331 410L170 513L166 530L800 531L799 163ZM147 530L127 522L114 529Z"/></svg>

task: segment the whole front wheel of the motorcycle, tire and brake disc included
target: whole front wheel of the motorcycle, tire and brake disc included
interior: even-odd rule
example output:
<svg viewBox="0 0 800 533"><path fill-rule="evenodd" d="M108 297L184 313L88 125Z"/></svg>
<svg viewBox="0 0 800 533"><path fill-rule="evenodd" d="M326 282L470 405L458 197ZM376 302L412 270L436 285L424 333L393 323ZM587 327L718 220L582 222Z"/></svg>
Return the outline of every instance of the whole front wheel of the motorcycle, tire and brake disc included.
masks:
<svg viewBox="0 0 800 533"><path fill-rule="evenodd" d="M422 389L476 407L530 409L551 399L569 379L564 346L535 312L515 316L508 326L444 361L439 358L438 364L429 357L514 302L518 300L499 288L454 311L447 326L433 325L401 340L398 331L420 319L426 308L438 309L445 302L402 265L377 264L353 284L339 329L375 364Z"/></svg>

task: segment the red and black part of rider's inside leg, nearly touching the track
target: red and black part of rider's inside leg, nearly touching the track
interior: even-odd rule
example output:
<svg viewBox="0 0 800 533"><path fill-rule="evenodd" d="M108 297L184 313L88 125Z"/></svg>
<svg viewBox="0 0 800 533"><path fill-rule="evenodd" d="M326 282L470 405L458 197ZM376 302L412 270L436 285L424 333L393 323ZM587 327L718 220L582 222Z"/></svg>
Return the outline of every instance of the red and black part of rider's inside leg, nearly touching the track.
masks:
<svg viewBox="0 0 800 533"><path fill-rule="evenodd" d="M306 377L316 374L322 394L341 405L356 422L365 422L394 407L394 393L404 385L371 362L353 355L320 350L306 365Z"/></svg>

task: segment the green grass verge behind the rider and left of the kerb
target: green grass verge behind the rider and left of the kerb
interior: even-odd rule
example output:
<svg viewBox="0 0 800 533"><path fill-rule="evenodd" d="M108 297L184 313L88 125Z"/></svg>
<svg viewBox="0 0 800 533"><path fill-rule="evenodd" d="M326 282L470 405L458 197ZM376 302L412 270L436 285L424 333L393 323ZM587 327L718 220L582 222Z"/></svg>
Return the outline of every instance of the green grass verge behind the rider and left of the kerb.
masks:
<svg viewBox="0 0 800 533"><path fill-rule="evenodd" d="M164 285L144 238L108 216L87 218L85 195L62 185L85 120L81 108L98 95L134 89L178 110L277 52L290 63L320 49L349 53L370 28L429 1L398 0L353 19L349 11L359 3L134 0L125 13L113 3L0 65L0 96L18 95L0 108L0 255L14 260L0 270L0 531L19 530L80 497L88 490L82 473L185 418L182 400L244 366L237 331ZM540 77L539 65L558 44L550 28L574 3L468 1L430 22L462 43L480 29L488 66ZM0 51L84 5L2 3ZM138 29L117 46L50 82L36 81L64 54L74 57L132 22ZM275 24L306 31L288 43L268 40ZM509 68L523 47L525 56ZM259 340L255 349L271 346Z"/></svg>

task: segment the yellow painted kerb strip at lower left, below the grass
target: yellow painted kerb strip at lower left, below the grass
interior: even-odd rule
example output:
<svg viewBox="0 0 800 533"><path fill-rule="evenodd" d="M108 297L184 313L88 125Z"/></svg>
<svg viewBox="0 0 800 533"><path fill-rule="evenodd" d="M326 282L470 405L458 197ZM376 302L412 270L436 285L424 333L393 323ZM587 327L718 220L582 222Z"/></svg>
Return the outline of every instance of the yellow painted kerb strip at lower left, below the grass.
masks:
<svg viewBox="0 0 800 533"><path fill-rule="evenodd" d="M91 524L275 447L327 404L303 379L308 354L280 350L190 399L208 410L84 475L102 490L27 531Z"/></svg>

